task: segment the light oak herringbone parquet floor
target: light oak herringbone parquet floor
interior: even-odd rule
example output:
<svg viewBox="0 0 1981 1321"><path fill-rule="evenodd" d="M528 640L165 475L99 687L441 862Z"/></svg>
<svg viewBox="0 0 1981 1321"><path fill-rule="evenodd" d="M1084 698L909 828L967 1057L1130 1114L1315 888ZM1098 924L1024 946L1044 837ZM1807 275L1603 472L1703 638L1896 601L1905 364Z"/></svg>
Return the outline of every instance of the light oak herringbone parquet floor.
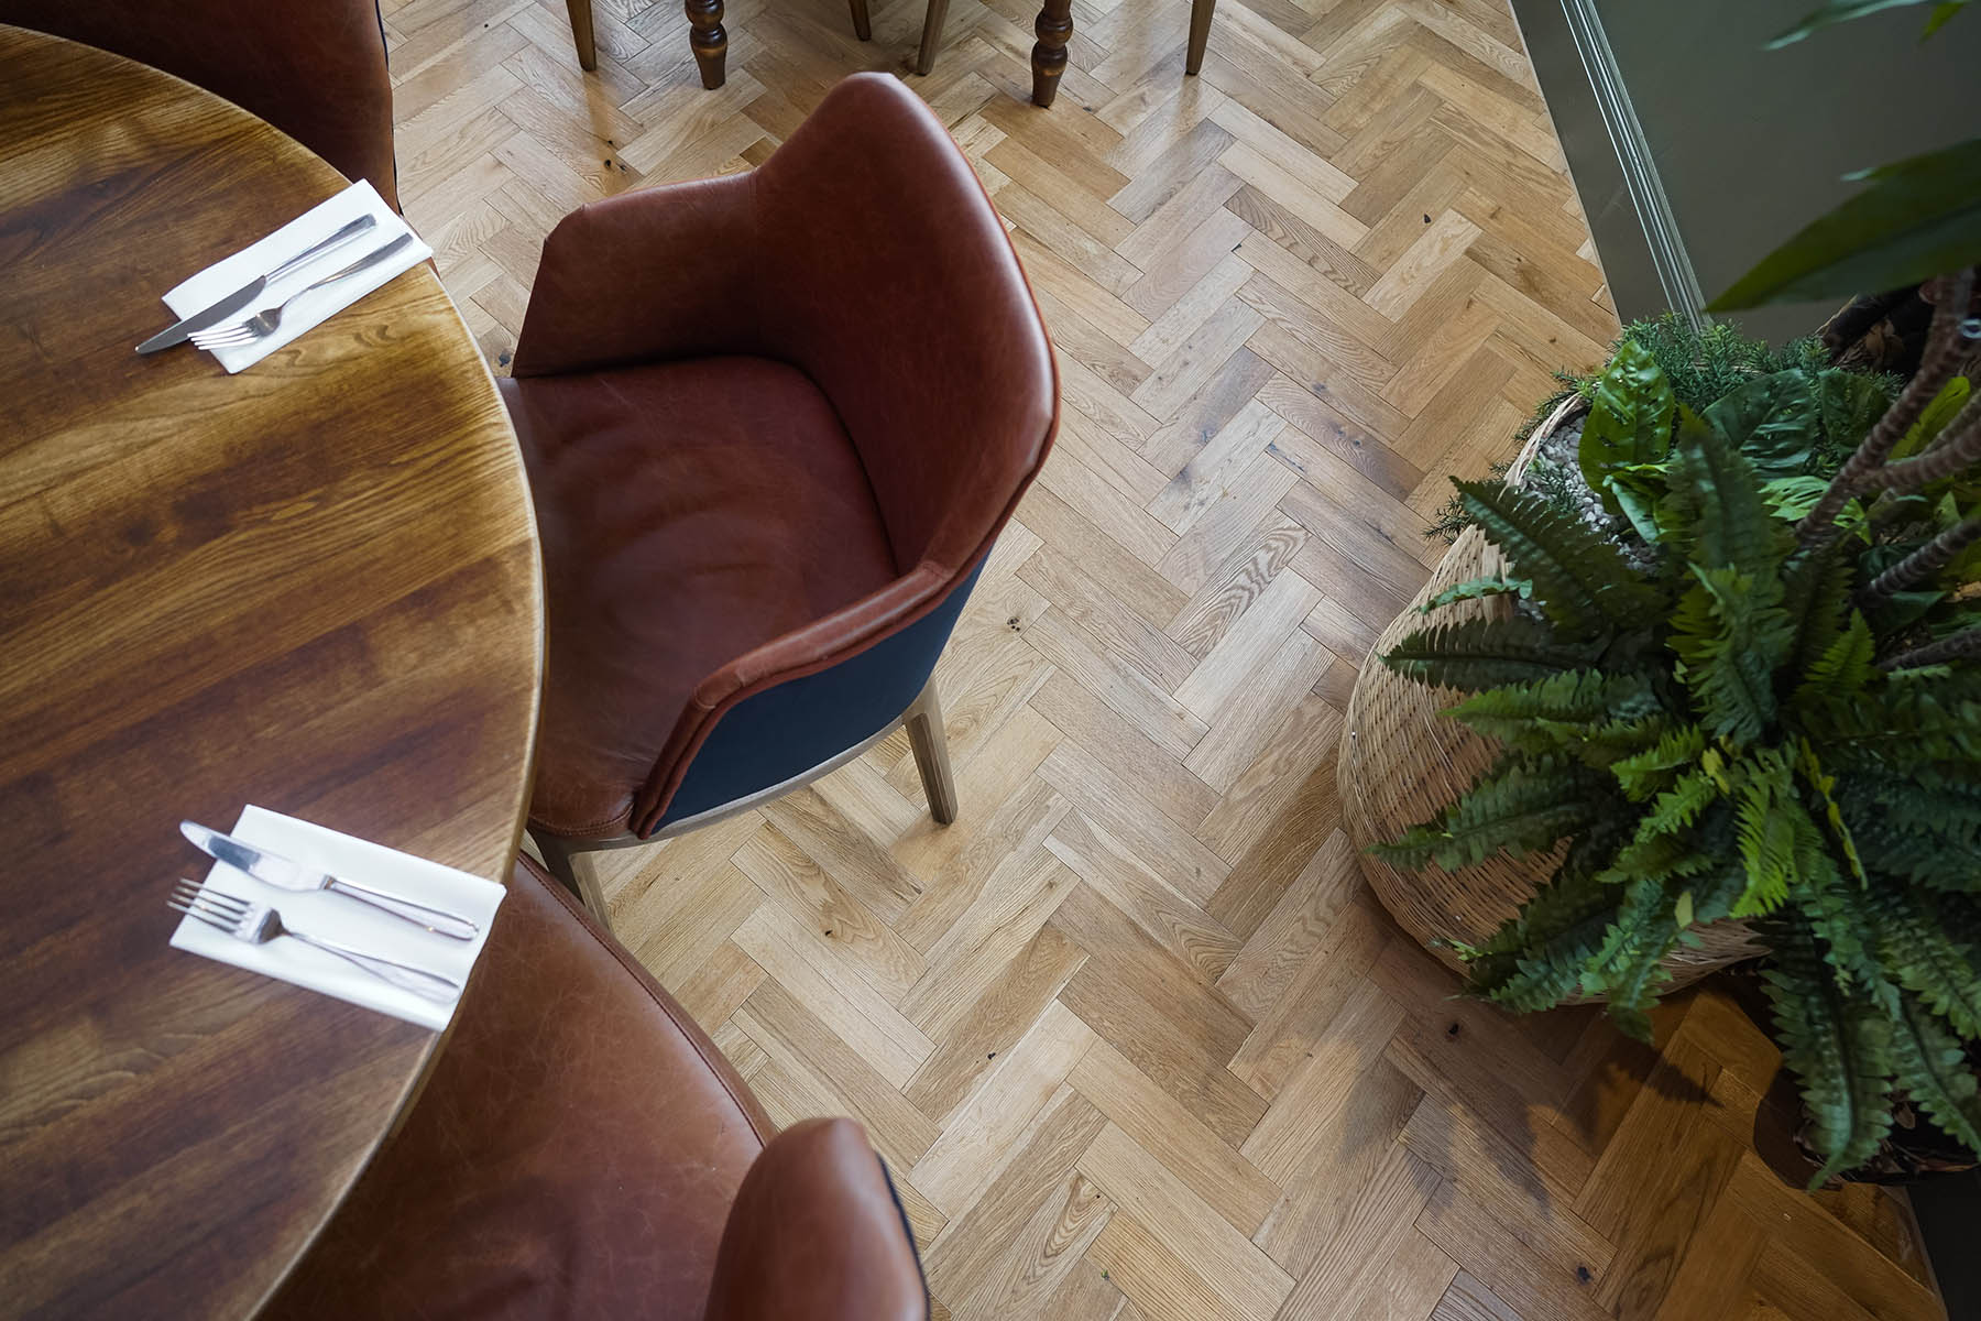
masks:
<svg viewBox="0 0 1981 1321"><path fill-rule="evenodd" d="M543 234L747 168L921 6L386 2L408 216L499 366ZM957 0L911 79L990 188L1066 382L939 677L963 818L895 735L814 790L606 854L614 923L779 1121L852 1113L939 1315L1933 1317L1904 1212L1751 1151L1767 1042L1510 1020L1357 879L1341 711L1422 582L1444 475L1506 457L1616 323L1502 0ZM683 254L691 259L691 254ZM608 279L602 273L602 279Z"/></svg>

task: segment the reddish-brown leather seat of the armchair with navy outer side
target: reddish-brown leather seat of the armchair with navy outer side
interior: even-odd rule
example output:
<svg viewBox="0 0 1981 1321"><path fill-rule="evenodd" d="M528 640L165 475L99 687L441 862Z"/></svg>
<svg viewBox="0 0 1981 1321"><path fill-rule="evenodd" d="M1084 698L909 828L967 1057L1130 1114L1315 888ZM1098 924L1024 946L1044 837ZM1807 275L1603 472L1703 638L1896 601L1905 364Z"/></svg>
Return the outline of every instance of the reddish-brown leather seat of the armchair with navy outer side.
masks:
<svg viewBox="0 0 1981 1321"><path fill-rule="evenodd" d="M531 822L624 828L697 683L899 566L858 450L792 366L717 356L501 388L551 616Z"/></svg>

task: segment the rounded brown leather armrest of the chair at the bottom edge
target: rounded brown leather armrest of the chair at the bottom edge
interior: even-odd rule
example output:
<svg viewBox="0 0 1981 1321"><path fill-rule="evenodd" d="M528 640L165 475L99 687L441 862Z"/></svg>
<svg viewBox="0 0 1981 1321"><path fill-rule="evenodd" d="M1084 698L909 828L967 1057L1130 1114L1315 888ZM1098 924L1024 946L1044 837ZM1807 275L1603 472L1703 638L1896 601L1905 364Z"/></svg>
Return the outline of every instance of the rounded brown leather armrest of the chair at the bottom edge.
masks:
<svg viewBox="0 0 1981 1321"><path fill-rule="evenodd" d="M729 1208L703 1321L927 1321L907 1216L852 1119L771 1139Z"/></svg>

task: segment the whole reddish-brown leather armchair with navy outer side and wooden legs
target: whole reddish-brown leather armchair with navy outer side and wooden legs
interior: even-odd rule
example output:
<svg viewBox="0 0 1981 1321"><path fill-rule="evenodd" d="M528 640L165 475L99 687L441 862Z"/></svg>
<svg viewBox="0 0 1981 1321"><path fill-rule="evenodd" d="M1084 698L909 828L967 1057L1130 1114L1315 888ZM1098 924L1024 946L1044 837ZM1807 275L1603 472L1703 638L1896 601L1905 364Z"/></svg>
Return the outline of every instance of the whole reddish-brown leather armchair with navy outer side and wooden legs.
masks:
<svg viewBox="0 0 1981 1321"><path fill-rule="evenodd" d="M549 602L531 834L567 883L573 852L788 790L903 713L955 816L929 675L1058 378L911 91L854 75L753 172L567 216L501 386Z"/></svg>

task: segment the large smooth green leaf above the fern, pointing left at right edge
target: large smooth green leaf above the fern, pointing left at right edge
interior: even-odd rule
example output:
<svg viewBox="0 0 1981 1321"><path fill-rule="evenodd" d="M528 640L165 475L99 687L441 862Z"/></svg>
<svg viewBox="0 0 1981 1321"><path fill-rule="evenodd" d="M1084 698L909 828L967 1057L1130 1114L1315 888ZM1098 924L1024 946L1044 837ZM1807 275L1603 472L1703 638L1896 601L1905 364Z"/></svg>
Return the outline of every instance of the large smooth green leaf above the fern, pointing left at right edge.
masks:
<svg viewBox="0 0 1981 1321"><path fill-rule="evenodd" d="M1981 139L1864 178L1868 188L1803 226L1706 311L1902 289L1981 261Z"/></svg>

